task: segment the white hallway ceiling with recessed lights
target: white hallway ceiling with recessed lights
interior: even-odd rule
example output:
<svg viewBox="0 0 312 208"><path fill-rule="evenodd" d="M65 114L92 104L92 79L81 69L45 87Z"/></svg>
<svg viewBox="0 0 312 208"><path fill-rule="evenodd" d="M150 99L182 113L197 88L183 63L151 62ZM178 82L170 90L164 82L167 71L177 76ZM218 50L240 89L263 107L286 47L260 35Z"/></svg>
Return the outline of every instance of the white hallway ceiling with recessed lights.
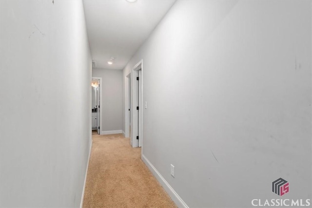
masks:
<svg viewBox="0 0 312 208"><path fill-rule="evenodd" d="M83 0L95 68L123 69L175 0ZM115 57L113 64L107 61Z"/></svg>

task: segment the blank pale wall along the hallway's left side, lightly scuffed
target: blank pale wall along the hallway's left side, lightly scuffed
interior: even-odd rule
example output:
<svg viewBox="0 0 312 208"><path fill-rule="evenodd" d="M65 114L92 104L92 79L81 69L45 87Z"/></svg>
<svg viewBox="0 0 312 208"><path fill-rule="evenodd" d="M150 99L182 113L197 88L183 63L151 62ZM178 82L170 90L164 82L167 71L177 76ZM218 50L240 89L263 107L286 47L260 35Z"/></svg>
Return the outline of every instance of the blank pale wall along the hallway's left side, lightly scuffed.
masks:
<svg viewBox="0 0 312 208"><path fill-rule="evenodd" d="M79 207L91 145L82 2L0 6L0 207Z"/></svg>

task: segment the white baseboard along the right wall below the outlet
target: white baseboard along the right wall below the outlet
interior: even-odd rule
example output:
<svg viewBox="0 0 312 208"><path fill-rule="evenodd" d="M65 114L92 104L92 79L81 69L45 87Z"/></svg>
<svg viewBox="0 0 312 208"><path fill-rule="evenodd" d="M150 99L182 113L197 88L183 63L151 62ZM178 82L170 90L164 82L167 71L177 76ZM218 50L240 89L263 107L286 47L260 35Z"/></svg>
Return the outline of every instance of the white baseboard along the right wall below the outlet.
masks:
<svg viewBox="0 0 312 208"><path fill-rule="evenodd" d="M165 191L169 194L170 198L176 203L176 206L179 208L189 208L185 202L181 199L181 197L176 193L176 191L168 184L168 182L162 177L162 175L156 170L156 168L152 165L152 163L142 154L142 160L146 164L149 170L156 177L157 181L160 185L165 189Z"/></svg>

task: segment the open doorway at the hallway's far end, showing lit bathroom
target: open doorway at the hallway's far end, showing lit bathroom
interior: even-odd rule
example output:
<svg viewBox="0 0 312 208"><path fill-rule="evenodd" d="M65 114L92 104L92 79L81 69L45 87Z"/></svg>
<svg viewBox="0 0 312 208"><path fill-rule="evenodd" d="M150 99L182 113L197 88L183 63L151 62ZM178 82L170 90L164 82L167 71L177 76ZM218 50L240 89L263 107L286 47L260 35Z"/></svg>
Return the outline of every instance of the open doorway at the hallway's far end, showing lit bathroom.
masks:
<svg viewBox="0 0 312 208"><path fill-rule="evenodd" d="M101 113L100 113L100 104L101 104L101 87L102 87L102 78L101 77L92 77L92 104L91 104L91 113L92 113L92 134L101 134Z"/></svg>

